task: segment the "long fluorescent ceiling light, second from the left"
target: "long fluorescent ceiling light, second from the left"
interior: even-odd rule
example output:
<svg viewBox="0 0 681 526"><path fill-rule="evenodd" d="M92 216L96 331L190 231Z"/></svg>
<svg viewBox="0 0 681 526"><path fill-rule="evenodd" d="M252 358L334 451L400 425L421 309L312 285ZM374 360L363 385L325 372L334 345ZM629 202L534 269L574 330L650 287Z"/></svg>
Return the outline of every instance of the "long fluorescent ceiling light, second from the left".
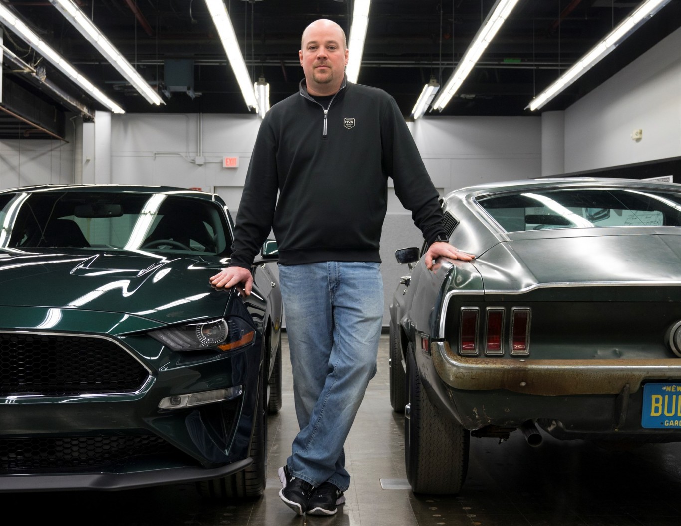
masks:
<svg viewBox="0 0 681 526"><path fill-rule="evenodd" d="M72 0L50 0L54 7L71 22L80 34L90 42L101 55L109 61L109 63L118 70L118 73L123 75L128 82L140 92L142 97L146 99L149 104L164 104L161 97L151 89L146 80L136 72L136 70L125 60L123 55L118 52L116 48L109 42L99 29L87 18L78 6Z"/></svg>

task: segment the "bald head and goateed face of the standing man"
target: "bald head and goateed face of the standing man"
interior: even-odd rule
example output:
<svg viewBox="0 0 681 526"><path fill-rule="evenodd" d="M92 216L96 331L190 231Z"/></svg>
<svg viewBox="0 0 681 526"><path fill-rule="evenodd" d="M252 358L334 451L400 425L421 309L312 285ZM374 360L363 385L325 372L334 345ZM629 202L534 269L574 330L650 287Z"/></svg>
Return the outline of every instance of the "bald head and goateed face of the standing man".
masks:
<svg viewBox="0 0 681 526"><path fill-rule="evenodd" d="M309 26L303 33L298 58L311 95L331 95L340 89L348 51L338 26L323 20Z"/></svg>

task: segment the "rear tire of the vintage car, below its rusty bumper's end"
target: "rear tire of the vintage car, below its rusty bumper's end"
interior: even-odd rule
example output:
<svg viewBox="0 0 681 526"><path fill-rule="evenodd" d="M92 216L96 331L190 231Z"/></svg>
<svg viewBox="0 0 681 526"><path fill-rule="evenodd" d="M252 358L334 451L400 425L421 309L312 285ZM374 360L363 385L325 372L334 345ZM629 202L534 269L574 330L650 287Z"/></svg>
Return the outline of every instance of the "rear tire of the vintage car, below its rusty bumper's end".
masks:
<svg viewBox="0 0 681 526"><path fill-rule="evenodd" d="M410 348L409 417L405 417L405 464L414 493L458 493L468 469L469 432L445 418L428 398Z"/></svg>

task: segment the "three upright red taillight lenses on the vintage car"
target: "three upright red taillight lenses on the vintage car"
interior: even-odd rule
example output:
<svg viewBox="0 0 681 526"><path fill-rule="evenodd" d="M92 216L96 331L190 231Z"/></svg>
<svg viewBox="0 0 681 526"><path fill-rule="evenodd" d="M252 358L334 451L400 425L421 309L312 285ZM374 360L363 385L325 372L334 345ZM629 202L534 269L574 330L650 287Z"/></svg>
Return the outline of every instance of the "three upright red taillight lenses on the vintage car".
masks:
<svg viewBox="0 0 681 526"><path fill-rule="evenodd" d="M531 310L528 307L512 307L509 321L506 311L503 307L488 307L481 329L480 309L462 307L458 332L459 354L477 356L481 349L490 356L503 355L505 349L516 356L530 354Z"/></svg>

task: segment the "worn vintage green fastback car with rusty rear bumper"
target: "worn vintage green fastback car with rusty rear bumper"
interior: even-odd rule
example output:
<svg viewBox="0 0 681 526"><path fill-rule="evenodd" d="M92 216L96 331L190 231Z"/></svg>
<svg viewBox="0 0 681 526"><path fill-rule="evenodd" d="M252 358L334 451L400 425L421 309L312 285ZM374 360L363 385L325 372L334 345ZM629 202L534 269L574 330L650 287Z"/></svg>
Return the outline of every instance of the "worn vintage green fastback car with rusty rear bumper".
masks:
<svg viewBox="0 0 681 526"><path fill-rule="evenodd" d="M681 185L496 183L443 212L476 258L397 251L413 270L390 307L413 491L457 493L471 435L681 441Z"/></svg>

